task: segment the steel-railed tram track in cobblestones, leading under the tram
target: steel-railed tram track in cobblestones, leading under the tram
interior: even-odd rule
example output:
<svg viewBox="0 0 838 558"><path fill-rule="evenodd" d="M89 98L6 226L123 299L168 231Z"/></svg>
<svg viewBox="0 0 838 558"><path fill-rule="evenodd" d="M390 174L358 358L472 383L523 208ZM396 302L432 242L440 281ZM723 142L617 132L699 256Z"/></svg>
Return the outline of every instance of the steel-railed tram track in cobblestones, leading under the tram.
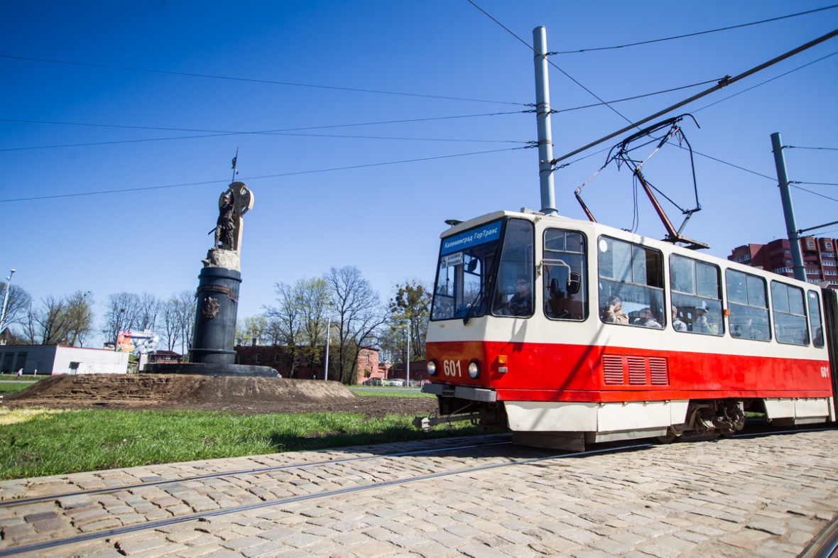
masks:
<svg viewBox="0 0 838 558"><path fill-rule="evenodd" d="M740 437L784 432L788 431L756 430L743 432ZM587 452L556 452L515 447L510 443L509 436L501 435L411 451L330 458L5 500L0 502L0 511L5 510L7 517L0 524L13 523L16 517L23 519L23 514L26 519L30 519L32 512L27 510L34 504L40 517L49 516L54 522L63 524L64 528L45 532L39 536L39 540L23 545L7 545L3 548L6 541L0 541L0 557L41 553L88 540L159 530L168 525L205 521L304 500L334 498L493 468L586 457L605 452L637 451L650 445L615 443L601 445ZM116 505L116 502L121 504ZM120 514L121 506L134 511L125 513L123 510ZM77 520L90 514L108 514L112 518L111 524L119 524L85 524Z"/></svg>

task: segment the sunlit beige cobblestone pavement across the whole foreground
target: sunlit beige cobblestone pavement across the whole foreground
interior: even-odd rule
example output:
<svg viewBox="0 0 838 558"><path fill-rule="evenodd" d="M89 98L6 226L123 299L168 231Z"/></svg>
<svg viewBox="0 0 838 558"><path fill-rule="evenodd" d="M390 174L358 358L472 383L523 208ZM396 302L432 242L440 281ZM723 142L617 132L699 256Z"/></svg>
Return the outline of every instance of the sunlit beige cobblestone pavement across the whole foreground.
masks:
<svg viewBox="0 0 838 558"><path fill-rule="evenodd" d="M454 442L446 440L6 481L0 483L3 500L183 479L0 507L0 555L792 557L838 511L836 442L838 431L830 430L675 443L517 463L351 493L335 491L550 454L505 444L463 453L447 449ZM188 479L432 447L442 452ZM329 491L324 497L294 499ZM17 554L14 550L274 499L284 500L153 530Z"/></svg>

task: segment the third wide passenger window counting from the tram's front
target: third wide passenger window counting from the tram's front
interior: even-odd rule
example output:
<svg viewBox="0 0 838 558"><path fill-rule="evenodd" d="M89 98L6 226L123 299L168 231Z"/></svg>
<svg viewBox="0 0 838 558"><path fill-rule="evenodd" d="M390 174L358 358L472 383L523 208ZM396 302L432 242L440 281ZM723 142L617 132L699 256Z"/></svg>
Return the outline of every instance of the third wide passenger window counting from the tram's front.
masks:
<svg viewBox="0 0 838 558"><path fill-rule="evenodd" d="M725 271L731 335L735 338L768 341L768 302L765 280L742 271Z"/></svg>

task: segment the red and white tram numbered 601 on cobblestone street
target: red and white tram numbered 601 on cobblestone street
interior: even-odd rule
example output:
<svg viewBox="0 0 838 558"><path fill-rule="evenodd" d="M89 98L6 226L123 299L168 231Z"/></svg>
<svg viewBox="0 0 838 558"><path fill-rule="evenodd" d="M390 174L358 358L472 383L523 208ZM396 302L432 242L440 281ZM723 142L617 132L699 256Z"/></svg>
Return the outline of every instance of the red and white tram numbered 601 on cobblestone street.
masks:
<svg viewBox="0 0 838 558"><path fill-rule="evenodd" d="M423 388L438 396L435 423L471 418L517 443L581 449L729 435L745 411L835 420L834 292L528 210L441 238Z"/></svg>

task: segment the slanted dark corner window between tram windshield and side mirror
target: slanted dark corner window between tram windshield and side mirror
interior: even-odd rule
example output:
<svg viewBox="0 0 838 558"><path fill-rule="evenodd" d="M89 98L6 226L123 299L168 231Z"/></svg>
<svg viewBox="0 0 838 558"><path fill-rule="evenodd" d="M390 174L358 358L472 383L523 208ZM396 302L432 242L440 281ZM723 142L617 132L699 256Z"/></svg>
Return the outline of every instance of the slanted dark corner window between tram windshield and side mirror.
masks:
<svg viewBox="0 0 838 558"><path fill-rule="evenodd" d="M510 219L504 233L498 266L497 293L492 313L497 316L532 316L534 233L532 223Z"/></svg>

